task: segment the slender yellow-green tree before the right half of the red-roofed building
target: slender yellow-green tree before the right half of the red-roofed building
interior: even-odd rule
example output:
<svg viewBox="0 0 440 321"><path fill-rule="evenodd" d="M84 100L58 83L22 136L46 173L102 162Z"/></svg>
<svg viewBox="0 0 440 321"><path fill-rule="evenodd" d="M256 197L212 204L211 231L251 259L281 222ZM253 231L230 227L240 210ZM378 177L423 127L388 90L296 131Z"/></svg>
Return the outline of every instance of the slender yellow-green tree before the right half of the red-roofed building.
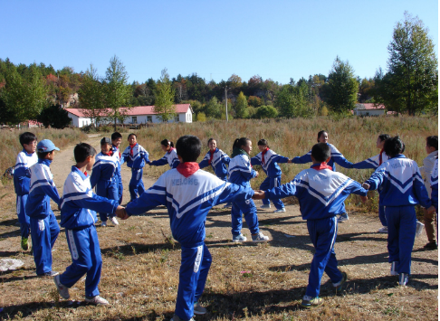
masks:
<svg viewBox="0 0 440 321"><path fill-rule="evenodd" d="M158 113L158 118L163 122L167 122L169 119L176 117L176 105L174 104L175 91L167 68L162 71L160 80L155 90L156 102L154 105L154 111Z"/></svg>

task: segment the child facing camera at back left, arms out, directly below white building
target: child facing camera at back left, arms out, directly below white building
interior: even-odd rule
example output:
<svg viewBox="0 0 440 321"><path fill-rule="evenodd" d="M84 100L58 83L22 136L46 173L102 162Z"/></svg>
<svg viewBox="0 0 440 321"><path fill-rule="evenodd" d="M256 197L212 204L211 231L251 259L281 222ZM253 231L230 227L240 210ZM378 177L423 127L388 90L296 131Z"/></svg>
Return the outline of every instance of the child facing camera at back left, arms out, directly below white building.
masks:
<svg viewBox="0 0 440 321"><path fill-rule="evenodd" d="M120 164L127 162L131 168L131 179L129 181L130 202L137 199L138 195L145 192L144 182L142 182L143 168L145 163L149 163L148 152L138 144L136 134L129 134L129 146L125 148L120 156Z"/></svg>

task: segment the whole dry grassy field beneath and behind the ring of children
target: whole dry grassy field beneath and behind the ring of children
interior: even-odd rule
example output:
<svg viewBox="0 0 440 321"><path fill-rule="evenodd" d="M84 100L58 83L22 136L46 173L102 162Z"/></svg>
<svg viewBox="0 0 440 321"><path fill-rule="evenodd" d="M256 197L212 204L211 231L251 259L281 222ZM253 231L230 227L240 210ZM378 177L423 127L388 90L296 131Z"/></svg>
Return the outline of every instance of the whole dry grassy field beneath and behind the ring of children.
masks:
<svg viewBox="0 0 440 321"><path fill-rule="evenodd" d="M151 159L163 156L158 146L161 139L176 142L177 137L185 134L196 135L204 142L215 137L219 147L228 154L235 137L250 137L253 154L256 154L256 142L264 137L274 151L292 157L309 151L316 141L316 133L324 128L329 132L330 143L350 161L358 162L378 154L374 144L378 134L398 134L407 145L405 154L421 165L425 157L425 137L436 134L437 127L436 120L431 118L234 120L229 124L148 127L138 131L137 135L139 144L148 150ZM127 134L124 133L124 137ZM73 137L65 142L51 166L60 193L73 161L72 144L87 140L98 147L100 138L106 135ZM12 136L2 138L4 141L14 140ZM126 141L124 144L127 146ZM283 181L291 180L307 166L283 165ZM338 168L359 181L371 173ZM144 184L150 186L165 170L166 166L147 167ZM129 198L129 174L124 166L125 200ZM253 181L254 188L258 187L263 176ZM201 298L208 313L196 316L196 320L436 319L438 251L422 249L426 243L424 234L417 238L410 282L408 287L399 287L397 277L389 276L387 239L386 235L376 232L380 227L375 212L377 200L374 193L370 196L373 201L365 206L359 206L356 198L349 200L349 221L339 227L336 254L340 269L349 275L349 282L336 295L324 275L320 297L324 298L325 304L311 311L302 310L300 303L308 282L313 247L294 200L288 203L285 213L259 212L260 227L273 240L260 245L236 245L230 241L230 212L221 206L213 209L206 221L206 245L213 255L213 265ZM167 320L173 316L180 247L170 237L164 208L131 217L120 222L118 227L97 227L103 257L100 292L102 297L109 299L111 306L90 307L82 302L83 280L71 288L72 300L65 301L57 296L52 279L35 276L32 256L19 246L14 197L12 185L5 182L0 192L0 206L4 210L0 213L0 259L23 260L24 267L0 275L0 291L3 293L0 297L1 319ZM257 206L259 204L257 202ZM53 211L60 219L60 212L54 204ZM250 238L245 224L243 231ZM53 270L62 272L70 263L62 229L53 250Z"/></svg>

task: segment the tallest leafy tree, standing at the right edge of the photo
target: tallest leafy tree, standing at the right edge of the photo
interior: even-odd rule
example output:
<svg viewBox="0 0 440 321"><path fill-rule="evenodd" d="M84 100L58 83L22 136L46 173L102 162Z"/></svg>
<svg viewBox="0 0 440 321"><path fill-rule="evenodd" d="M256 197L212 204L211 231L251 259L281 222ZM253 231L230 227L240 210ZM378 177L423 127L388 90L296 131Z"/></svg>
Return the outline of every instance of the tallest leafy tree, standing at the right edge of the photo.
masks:
<svg viewBox="0 0 440 321"><path fill-rule="evenodd" d="M387 109L406 110L413 116L424 109L436 110L438 70L434 46L423 22L405 12L387 48L387 74L377 74L375 100Z"/></svg>

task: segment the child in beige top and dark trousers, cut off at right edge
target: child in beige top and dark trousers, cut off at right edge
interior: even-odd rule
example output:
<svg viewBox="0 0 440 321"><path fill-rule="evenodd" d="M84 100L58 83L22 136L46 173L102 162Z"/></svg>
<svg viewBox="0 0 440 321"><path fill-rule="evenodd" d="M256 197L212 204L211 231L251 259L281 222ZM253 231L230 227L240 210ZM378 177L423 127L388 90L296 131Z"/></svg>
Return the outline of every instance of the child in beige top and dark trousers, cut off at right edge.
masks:
<svg viewBox="0 0 440 321"><path fill-rule="evenodd" d="M438 157L438 136L426 137L426 154L428 156L423 160L423 166L420 167L420 172L424 177L424 182L428 197L431 197L430 178L433 173L435 160ZM424 221L425 221L426 236L428 238L428 242L424 246L424 249L436 250L437 241L435 240L434 215L425 212Z"/></svg>

